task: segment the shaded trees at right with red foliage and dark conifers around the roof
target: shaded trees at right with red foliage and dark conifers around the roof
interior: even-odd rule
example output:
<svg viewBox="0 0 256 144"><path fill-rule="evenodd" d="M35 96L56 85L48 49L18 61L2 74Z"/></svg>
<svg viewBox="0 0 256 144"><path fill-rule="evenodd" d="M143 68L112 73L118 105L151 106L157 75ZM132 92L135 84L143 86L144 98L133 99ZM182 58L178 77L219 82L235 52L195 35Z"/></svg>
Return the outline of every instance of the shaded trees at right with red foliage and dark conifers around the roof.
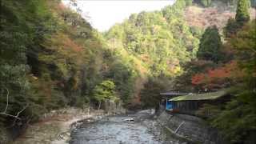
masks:
<svg viewBox="0 0 256 144"><path fill-rule="evenodd" d="M206 120L220 130L227 143L254 143L256 22L255 16L250 17L250 1L237 2L235 17L223 29L206 28L196 58L183 66L175 87L199 93L226 90L230 102L206 104L198 116L212 110Z"/></svg>

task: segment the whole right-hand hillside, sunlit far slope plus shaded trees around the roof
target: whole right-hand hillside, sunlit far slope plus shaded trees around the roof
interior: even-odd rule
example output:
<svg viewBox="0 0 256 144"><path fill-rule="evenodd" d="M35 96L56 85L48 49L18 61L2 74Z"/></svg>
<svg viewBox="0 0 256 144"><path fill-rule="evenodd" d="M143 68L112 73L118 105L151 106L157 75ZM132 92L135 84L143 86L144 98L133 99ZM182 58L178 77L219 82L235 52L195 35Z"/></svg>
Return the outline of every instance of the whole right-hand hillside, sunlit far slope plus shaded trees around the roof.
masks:
<svg viewBox="0 0 256 144"><path fill-rule="evenodd" d="M132 14L105 37L110 48L126 50L148 70L139 94L142 107L158 107L158 94L164 90L225 89L230 102L206 105L198 116L212 109L214 114L206 120L226 142L255 142L256 34L251 6L254 1L177 1L161 11ZM204 9L201 15L184 17L199 9ZM202 19L193 22L193 16Z"/></svg>

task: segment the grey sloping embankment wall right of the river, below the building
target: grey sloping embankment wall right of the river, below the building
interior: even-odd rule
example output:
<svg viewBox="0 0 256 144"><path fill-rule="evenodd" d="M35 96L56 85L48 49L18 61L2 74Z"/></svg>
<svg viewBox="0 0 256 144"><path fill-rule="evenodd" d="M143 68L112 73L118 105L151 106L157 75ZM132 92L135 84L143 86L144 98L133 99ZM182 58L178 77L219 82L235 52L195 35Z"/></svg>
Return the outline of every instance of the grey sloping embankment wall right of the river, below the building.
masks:
<svg viewBox="0 0 256 144"><path fill-rule="evenodd" d="M167 114L158 116L157 121L175 137L192 143L222 144L221 135L202 119L186 114Z"/></svg>

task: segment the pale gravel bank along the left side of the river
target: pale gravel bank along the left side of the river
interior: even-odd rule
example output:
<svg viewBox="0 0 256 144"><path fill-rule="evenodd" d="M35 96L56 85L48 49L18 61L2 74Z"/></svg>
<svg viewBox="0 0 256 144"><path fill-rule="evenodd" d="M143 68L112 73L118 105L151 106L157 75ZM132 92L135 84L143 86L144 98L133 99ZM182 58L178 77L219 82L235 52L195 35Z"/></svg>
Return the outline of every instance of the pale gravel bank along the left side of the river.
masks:
<svg viewBox="0 0 256 144"><path fill-rule="evenodd" d="M13 144L63 144L70 141L70 132L78 121L87 118L102 118L104 110L66 108L53 110L38 122L28 126L25 133Z"/></svg>

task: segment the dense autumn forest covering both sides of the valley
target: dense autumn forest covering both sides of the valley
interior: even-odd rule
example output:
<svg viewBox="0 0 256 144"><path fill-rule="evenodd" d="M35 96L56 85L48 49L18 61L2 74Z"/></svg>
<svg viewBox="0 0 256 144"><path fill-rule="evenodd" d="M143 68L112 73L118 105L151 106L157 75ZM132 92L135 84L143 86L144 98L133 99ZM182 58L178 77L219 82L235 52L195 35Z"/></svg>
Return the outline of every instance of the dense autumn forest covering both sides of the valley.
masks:
<svg viewBox="0 0 256 144"><path fill-rule="evenodd" d="M224 27L190 26L184 18L189 6L216 5L235 7ZM1 1L0 141L66 106L101 108L111 100L146 109L158 107L161 91L225 88L230 102L207 105L215 111L207 122L230 143L255 142L255 6L254 0L177 0L99 33L61 0Z"/></svg>

